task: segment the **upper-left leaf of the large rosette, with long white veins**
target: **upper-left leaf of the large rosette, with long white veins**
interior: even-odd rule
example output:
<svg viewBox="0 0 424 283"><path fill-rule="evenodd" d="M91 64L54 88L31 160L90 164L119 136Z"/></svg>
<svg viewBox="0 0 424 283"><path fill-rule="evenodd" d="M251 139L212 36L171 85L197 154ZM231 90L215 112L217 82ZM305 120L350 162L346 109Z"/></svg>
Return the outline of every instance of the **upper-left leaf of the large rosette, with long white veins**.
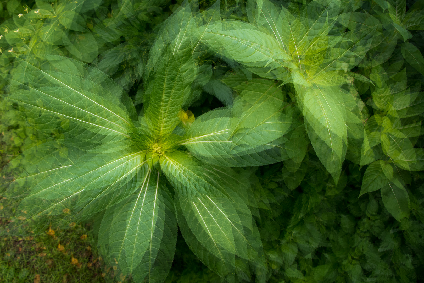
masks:
<svg viewBox="0 0 424 283"><path fill-rule="evenodd" d="M9 101L37 129L70 132L81 127L99 134L129 137L133 125L119 98L122 89L105 74L80 62L45 55L20 61L9 76Z"/></svg>

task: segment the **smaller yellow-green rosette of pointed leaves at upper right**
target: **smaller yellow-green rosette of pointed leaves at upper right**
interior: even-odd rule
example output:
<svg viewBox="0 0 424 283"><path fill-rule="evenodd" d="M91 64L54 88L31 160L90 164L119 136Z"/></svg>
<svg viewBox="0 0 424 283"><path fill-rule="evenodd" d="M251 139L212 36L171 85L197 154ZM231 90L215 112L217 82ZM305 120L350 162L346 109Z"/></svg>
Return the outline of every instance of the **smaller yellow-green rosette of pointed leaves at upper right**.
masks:
<svg viewBox="0 0 424 283"><path fill-rule="evenodd" d="M350 83L368 79L350 70L371 47L379 24L349 22L346 32L339 15L355 8L338 0L288 9L266 0L250 1L251 23L217 21L197 34L205 45L247 70L294 84L306 132L336 183L346 153L355 154L354 145L363 141L363 103Z"/></svg>

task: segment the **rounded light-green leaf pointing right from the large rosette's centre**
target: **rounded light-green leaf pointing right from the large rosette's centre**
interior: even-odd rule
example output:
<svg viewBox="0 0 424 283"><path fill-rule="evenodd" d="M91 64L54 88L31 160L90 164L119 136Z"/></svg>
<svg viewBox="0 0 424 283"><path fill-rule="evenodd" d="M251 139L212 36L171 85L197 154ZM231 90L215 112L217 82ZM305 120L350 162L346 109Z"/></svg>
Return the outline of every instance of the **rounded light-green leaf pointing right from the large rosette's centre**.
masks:
<svg viewBox="0 0 424 283"><path fill-rule="evenodd" d="M276 140L289 128L290 108L282 112L285 103L281 90L273 81L256 79L242 83L236 89L241 94L234 105L198 117L181 144L213 164L224 165L224 160L234 160L236 165L238 162L235 159L242 164L243 158L251 160L252 157L257 160L245 165L267 164L267 154L264 155L265 159L257 154L281 144ZM275 162L281 160L280 156L277 154L274 159L270 157Z"/></svg>

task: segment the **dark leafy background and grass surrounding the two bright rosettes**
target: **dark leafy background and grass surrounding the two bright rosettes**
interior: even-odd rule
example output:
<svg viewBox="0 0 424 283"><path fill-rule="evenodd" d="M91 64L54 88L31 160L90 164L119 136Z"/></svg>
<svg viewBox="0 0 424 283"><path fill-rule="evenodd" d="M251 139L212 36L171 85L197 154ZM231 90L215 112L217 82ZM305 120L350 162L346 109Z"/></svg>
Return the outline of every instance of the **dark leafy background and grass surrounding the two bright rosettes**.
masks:
<svg viewBox="0 0 424 283"><path fill-rule="evenodd" d="M249 21L252 2L222 1L221 17ZM142 75L148 68L148 52L161 24L181 3L165 0L1 2L1 73L15 66L14 54L68 56L103 70L129 92L137 111L142 111ZM199 6L204 10L212 3L199 1ZM274 3L293 11L296 5L308 2ZM303 118L298 111L299 126L293 126L286 136L294 149L303 151L296 151L297 155L282 163L251 169L259 177L255 191L259 208L253 213L266 258L267 273L262 276L268 282L424 280L424 174L422 168L413 171L398 168L396 173L387 163L396 151L420 149L424 145L421 136L424 3L414 0L349 3L357 14L346 19L347 30L353 29L353 23L357 22L378 29L367 53L352 69L369 78L358 76L353 84L362 101L361 122L369 137L368 151L372 151L377 161L362 165L355 160L354 152L349 155L348 151L336 185L331 170L321 163L300 127ZM368 22L361 22L364 14L371 16ZM243 73L240 65L229 58L205 56L204 60L212 64L213 76L190 107L195 117L232 104L237 92L226 78L232 73ZM246 71L244 74L251 76ZM1 79L0 91L5 91L5 84ZM287 101L295 104L296 82L285 84L283 91ZM410 101L399 102L399 95L408 95ZM402 105L409 106L410 112L402 112L406 108ZM398 115L401 118L387 118L393 109L402 112ZM0 120L1 167L47 138L27 126L3 99ZM402 127L393 126L396 123L413 126L409 130L399 129ZM396 143L397 148L388 141L391 135L402 137L402 144ZM404 188L407 194L400 212L389 211L390 205L385 203L383 191L379 191L381 184L393 179L393 174L398 175L398 188ZM2 221L2 225L6 224L7 219ZM66 231L47 230L45 235L30 238L1 239L0 282L102 282L93 225L78 224ZM254 281L254 278L240 280ZM179 234L166 282L220 282L220 278L192 254Z"/></svg>

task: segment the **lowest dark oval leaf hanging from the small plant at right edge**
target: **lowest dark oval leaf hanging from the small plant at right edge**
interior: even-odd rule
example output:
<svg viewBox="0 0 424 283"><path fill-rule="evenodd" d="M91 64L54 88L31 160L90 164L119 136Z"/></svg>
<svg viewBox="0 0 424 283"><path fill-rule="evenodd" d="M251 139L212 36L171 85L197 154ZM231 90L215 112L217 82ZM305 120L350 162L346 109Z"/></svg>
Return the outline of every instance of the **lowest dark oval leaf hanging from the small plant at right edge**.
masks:
<svg viewBox="0 0 424 283"><path fill-rule="evenodd" d="M400 221L404 217L409 217L410 200L403 185L393 179L381 188L381 198L387 211Z"/></svg>

